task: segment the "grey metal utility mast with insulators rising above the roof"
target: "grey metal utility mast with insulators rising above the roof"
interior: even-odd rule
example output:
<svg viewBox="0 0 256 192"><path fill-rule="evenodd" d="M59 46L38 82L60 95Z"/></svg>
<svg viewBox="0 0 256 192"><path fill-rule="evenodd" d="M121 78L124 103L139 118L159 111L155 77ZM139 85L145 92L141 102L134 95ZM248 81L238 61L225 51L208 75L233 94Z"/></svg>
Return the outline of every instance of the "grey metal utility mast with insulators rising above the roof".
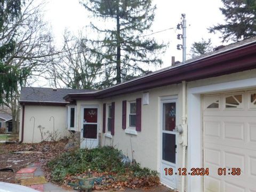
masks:
<svg viewBox="0 0 256 192"><path fill-rule="evenodd" d="M182 13L181 14L182 17L182 23L179 23L177 25L177 29L181 29L182 28L182 34L178 34L177 38L181 39L182 38L182 45L178 44L177 45L177 49L181 50L182 49L182 63L185 63L186 61L186 54L187 54L187 45L186 45L186 38L187 38L187 34L186 34L186 29L187 29L187 21L186 21L186 14Z"/></svg>

